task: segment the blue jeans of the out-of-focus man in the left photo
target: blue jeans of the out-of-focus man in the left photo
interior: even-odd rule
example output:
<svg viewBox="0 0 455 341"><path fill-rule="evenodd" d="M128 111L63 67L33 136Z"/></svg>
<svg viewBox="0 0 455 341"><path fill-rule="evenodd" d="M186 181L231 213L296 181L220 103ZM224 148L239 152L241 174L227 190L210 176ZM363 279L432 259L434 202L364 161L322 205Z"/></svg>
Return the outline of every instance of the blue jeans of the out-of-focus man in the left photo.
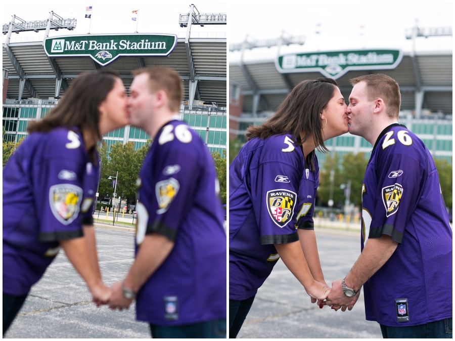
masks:
<svg viewBox="0 0 455 341"><path fill-rule="evenodd" d="M226 319L182 326L150 324L153 338L226 338Z"/></svg>

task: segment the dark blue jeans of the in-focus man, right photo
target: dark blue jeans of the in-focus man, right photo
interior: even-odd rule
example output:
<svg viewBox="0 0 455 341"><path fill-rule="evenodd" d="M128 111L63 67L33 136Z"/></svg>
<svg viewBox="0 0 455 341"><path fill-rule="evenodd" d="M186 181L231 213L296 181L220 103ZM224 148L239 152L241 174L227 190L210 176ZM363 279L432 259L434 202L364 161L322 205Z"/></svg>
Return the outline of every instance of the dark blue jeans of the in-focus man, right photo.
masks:
<svg viewBox="0 0 455 341"><path fill-rule="evenodd" d="M410 327L380 326L384 338L452 338L452 318Z"/></svg>

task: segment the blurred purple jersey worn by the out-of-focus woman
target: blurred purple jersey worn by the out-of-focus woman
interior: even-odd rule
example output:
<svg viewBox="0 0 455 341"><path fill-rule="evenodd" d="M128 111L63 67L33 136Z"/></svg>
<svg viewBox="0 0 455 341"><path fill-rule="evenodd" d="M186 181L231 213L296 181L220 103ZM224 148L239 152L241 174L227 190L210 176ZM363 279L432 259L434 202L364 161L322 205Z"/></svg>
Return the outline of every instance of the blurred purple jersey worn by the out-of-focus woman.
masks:
<svg viewBox="0 0 455 341"><path fill-rule="evenodd" d="M13 154L3 170L3 292L28 293L59 240L81 237L81 224L92 224L97 177L71 130L30 134Z"/></svg>

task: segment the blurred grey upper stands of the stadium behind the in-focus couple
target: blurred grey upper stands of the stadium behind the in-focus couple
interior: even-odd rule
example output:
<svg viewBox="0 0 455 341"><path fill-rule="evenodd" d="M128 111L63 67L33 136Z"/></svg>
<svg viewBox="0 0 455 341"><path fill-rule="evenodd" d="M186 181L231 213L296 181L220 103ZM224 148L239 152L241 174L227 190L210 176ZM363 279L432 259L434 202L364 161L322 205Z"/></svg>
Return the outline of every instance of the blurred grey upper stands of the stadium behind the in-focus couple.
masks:
<svg viewBox="0 0 455 341"><path fill-rule="evenodd" d="M348 71L337 79L346 100L354 78L369 73L385 73L395 79L401 91L401 110L424 108L431 112L452 114L452 52L404 53L392 70ZM280 73L275 59L239 61L229 64L229 81L242 86L243 113L253 115L275 111L300 81L323 77L320 72ZM419 106L420 105L420 106ZM420 113L420 112L419 112Z"/></svg>

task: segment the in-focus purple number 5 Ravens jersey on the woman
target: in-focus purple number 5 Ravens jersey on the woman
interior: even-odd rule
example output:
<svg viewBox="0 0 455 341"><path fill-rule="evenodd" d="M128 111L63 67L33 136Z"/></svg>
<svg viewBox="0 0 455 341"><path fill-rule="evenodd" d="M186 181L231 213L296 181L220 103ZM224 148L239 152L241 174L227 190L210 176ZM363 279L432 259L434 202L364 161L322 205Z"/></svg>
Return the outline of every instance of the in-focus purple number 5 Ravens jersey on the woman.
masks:
<svg viewBox="0 0 455 341"><path fill-rule="evenodd" d="M280 258L274 244L313 229L319 166L305 167L291 134L247 142L229 169L229 297L256 294Z"/></svg>

